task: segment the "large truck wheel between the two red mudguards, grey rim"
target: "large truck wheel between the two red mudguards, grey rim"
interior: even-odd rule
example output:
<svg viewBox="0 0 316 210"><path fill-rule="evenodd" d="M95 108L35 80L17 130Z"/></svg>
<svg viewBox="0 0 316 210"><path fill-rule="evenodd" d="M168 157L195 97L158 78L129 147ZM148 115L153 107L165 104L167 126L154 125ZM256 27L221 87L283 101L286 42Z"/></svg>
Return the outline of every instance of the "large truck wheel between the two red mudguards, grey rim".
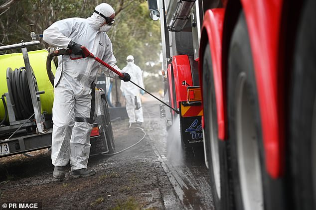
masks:
<svg viewBox="0 0 316 210"><path fill-rule="evenodd" d="M283 210L283 179L265 170L260 109L244 13L232 34L228 57L228 135L237 210Z"/></svg>

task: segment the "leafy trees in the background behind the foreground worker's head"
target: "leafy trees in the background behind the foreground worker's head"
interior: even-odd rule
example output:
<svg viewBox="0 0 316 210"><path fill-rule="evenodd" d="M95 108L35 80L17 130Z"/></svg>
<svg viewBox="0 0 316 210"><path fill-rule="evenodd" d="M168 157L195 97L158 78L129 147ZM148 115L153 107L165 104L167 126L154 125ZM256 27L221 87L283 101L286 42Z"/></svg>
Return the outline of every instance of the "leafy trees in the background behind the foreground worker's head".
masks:
<svg viewBox="0 0 316 210"><path fill-rule="evenodd" d="M108 35L118 66L123 68L127 55L133 55L135 63L144 72L149 72L151 77L160 72L160 27L157 21L151 20L146 0L0 0L0 46L20 43L21 40L30 41L29 24L34 24L35 33L41 34L57 20L67 17L86 18L101 2L111 4L116 11L116 22ZM40 46L29 50L47 47L41 41ZM0 53L12 52L19 51ZM150 65L152 63L155 68ZM145 83L145 87L150 87L151 83ZM157 84L161 84L158 89L162 87L160 79Z"/></svg>

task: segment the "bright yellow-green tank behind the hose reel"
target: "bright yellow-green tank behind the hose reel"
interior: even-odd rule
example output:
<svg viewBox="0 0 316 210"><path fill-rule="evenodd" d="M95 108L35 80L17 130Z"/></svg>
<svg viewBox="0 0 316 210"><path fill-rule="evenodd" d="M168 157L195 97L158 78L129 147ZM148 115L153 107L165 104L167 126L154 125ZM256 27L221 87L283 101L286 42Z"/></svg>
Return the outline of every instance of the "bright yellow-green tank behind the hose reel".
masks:
<svg viewBox="0 0 316 210"><path fill-rule="evenodd" d="M28 52L29 62L36 77L38 91L45 91L45 94L40 95L42 112L52 113L54 89L49 82L46 73L46 58L48 52L46 50L36 50ZM25 66L22 53L11 53L0 55L0 96L7 93L6 85L6 69L10 67L12 70ZM55 75L56 67L52 61L52 72ZM0 100L0 120L4 117L4 107Z"/></svg>

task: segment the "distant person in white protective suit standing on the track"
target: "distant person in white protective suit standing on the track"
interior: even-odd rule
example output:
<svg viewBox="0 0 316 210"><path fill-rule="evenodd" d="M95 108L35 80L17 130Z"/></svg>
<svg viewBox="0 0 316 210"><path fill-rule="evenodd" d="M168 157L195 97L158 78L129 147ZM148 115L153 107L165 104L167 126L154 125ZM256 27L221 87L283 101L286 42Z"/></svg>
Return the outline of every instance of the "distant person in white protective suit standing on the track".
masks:
<svg viewBox="0 0 316 210"><path fill-rule="evenodd" d="M131 76L133 82L144 88L142 70L134 64L134 57L129 55L126 61L127 66L123 68L123 71ZM126 101L126 111L129 116L130 127L132 123L139 126L142 125L144 118L140 94L144 95L144 91L133 83L121 83L121 91Z"/></svg>

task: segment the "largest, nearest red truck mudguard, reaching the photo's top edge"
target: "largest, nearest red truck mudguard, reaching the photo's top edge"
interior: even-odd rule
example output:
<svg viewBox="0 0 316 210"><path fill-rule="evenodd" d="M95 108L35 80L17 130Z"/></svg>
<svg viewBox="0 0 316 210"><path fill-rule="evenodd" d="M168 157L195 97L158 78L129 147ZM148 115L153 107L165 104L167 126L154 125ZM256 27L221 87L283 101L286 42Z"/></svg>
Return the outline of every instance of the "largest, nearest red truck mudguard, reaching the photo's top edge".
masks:
<svg viewBox="0 0 316 210"><path fill-rule="evenodd" d="M266 169L282 176L284 157L284 70L280 66L283 0L241 0L252 49L265 148Z"/></svg>

